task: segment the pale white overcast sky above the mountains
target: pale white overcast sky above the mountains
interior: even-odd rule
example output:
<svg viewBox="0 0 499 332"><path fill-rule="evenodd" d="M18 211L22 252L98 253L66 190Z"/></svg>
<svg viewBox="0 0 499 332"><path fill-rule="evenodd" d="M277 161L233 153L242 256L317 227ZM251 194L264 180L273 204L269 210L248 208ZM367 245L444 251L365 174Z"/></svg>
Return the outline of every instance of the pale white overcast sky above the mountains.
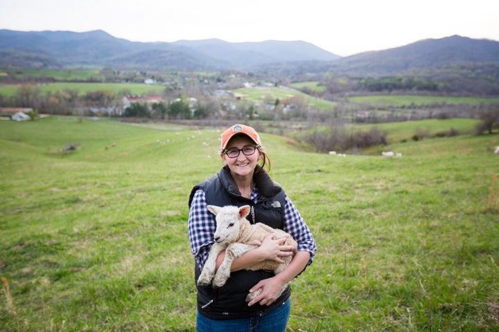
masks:
<svg viewBox="0 0 499 332"><path fill-rule="evenodd" d="M0 0L0 29L132 42L309 42L340 56L461 35L499 41L498 0Z"/></svg>

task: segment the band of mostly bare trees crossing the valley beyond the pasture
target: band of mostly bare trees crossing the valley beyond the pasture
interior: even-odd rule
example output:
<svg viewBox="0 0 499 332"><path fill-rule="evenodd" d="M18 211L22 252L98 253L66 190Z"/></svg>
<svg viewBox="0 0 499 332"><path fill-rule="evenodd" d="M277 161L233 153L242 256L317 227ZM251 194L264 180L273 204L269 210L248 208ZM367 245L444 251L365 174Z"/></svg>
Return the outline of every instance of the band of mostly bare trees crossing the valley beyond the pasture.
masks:
<svg viewBox="0 0 499 332"><path fill-rule="evenodd" d="M369 80L365 81L371 82ZM378 80L383 84L415 84L414 80ZM371 82L376 85L376 82ZM392 82L392 83L390 83ZM371 84L369 83L369 84ZM376 84L375 84L376 83ZM326 90L327 91L327 90ZM30 107L37 113L78 115L78 116L124 116L130 118L151 119L210 119L210 120L241 120L256 119L280 121L301 121L310 124L324 122L393 122L405 120L422 120L424 118L480 118L481 125L477 131L493 131L499 127L499 106L480 105L426 105L422 109L411 105L409 109L392 109L387 111L374 110L369 105L336 102L331 110L319 111L299 96L283 100L270 97L263 104L245 100L218 100L210 95L208 89L202 89L202 84L186 84L182 89L165 89L163 102L132 102L124 107L123 97L130 91L123 90L113 93L109 90L87 91L80 93L76 89L49 91L42 93L39 86L23 84L9 98L0 95L0 104L6 107ZM191 102L188 95L195 95ZM369 111L369 116L359 117L362 111ZM384 114L381 114L384 113Z"/></svg>

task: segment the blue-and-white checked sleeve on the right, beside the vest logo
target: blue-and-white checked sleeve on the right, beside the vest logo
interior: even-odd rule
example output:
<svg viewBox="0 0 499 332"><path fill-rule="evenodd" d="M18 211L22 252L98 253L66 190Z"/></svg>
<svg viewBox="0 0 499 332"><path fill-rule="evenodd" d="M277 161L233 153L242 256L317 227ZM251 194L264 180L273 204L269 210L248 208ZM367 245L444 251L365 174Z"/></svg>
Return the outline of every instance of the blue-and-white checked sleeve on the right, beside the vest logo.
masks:
<svg viewBox="0 0 499 332"><path fill-rule="evenodd" d="M291 234L293 239L298 243L298 251L310 252L308 264L312 264L317 245L315 239L305 223L304 219L299 214L297 208L292 203L291 199L286 195L286 206L284 208L284 231Z"/></svg>

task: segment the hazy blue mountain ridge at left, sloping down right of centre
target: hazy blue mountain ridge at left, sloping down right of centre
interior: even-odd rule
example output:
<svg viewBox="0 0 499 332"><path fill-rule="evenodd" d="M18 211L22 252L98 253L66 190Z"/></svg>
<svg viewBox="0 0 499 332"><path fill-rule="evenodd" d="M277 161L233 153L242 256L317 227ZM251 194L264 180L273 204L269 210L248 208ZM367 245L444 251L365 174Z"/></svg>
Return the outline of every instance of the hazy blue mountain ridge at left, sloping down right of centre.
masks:
<svg viewBox="0 0 499 332"><path fill-rule="evenodd" d="M249 70L266 63L324 61L338 55L306 42L229 43L220 39L141 43L102 30L21 32L0 30L0 66L104 65L116 68ZM42 57L44 61L31 61Z"/></svg>

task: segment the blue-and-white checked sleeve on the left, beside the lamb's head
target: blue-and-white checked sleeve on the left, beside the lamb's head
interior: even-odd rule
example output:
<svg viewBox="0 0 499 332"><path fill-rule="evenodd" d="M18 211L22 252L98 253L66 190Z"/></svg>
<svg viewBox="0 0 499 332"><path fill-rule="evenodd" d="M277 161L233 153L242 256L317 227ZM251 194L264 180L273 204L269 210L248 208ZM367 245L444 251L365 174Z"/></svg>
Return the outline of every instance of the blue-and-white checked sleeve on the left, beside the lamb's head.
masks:
<svg viewBox="0 0 499 332"><path fill-rule="evenodd" d="M213 234L216 230L216 221L208 209L204 191L198 189L189 209L189 222L187 225L189 241L191 242L191 252L194 255L196 264L200 268L209 255L209 249L213 244Z"/></svg>

